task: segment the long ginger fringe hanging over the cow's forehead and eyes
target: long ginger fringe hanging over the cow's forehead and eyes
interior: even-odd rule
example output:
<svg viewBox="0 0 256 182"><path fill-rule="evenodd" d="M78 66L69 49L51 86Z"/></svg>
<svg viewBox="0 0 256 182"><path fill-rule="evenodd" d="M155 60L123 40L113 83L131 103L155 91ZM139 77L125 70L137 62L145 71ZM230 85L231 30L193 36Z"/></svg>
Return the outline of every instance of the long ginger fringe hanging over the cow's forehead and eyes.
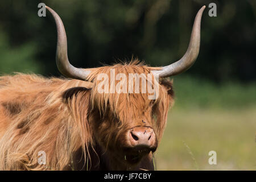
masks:
<svg viewBox="0 0 256 182"><path fill-rule="evenodd" d="M147 67L146 65L143 65L143 63L139 62L138 59L133 59L130 63L123 62L122 64L115 64L97 68L93 70L92 73L90 73L88 81L94 82L95 85L100 84L102 80L96 80L97 75L100 73L106 73L110 78L110 69L115 69L115 76L118 73L124 73L127 77L126 88L129 88L129 73L138 73L138 75L144 73L145 75L147 75L147 73L151 73L152 69L159 68ZM143 77L143 79L149 81L145 77ZM107 83L107 85L109 85L110 90L111 83L110 80L108 81L109 82ZM119 80L115 81L115 85L117 85L118 82ZM142 83L142 81L140 83ZM162 138L163 130L166 126L168 108L174 104L174 100L172 97L173 94L169 94L168 92L168 90L172 90L172 81L162 79L159 80L159 83L159 93L156 100L148 100L148 95L152 95L148 93L99 93L97 87L94 86L90 92L90 101L92 101L92 108L100 109L102 117L106 117L104 115L106 113L114 114L114 116L119 121L118 128L127 128L125 125L127 125L127 121L129 121L129 119L143 117L143 113L151 111L154 114L154 116L152 117L156 118L156 122L154 124L156 125L157 129L156 134L158 135L158 139L160 140ZM122 85L124 85L124 82L122 82ZM151 85L153 88L155 87L154 77L152 78ZM139 86L139 90L141 89L142 85ZM150 106L152 106L152 108ZM148 108L154 110L147 110ZM112 116L108 117L113 118ZM120 131L119 133L122 133L122 131ZM111 137L109 136L109 138Z"/></svg>

